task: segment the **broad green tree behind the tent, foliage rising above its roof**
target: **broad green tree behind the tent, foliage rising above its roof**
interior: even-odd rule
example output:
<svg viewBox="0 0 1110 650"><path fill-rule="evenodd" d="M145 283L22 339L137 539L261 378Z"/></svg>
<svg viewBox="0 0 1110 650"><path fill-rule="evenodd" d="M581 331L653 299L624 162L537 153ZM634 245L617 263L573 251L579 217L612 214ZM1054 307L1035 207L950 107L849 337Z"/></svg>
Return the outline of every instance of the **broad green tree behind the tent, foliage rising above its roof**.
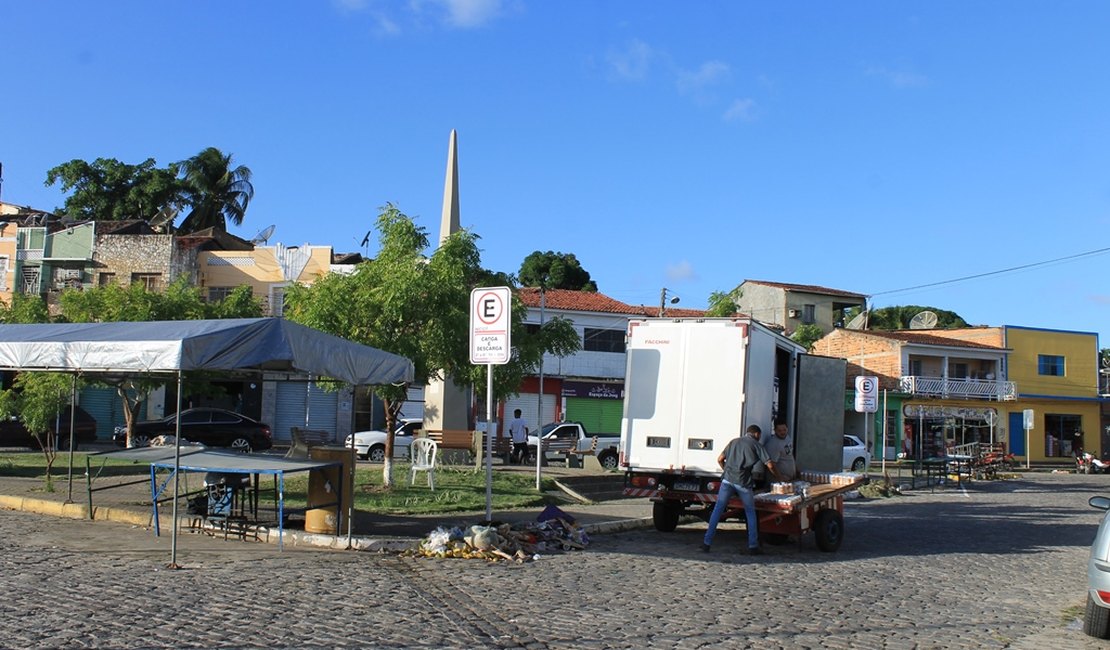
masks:
<svg viewBox="0 0 1110 650"><path fill-rule="evenodd" d="M200 290L179 278L163 293L148 291L134 283L124 287L118 284L84 291L68 290L59 299L62 317L71 323L109 323L118 321L195 321L200 318L251 318L262 315L262 305L250 296L250 287L239 287L228 298L206 303ZM188 389L203 393L209 388L208 375L190 373ZM128 446L131 445L133 425L139 407L162 380L143 376L105 380L115 388L123 403Z"/></svg>

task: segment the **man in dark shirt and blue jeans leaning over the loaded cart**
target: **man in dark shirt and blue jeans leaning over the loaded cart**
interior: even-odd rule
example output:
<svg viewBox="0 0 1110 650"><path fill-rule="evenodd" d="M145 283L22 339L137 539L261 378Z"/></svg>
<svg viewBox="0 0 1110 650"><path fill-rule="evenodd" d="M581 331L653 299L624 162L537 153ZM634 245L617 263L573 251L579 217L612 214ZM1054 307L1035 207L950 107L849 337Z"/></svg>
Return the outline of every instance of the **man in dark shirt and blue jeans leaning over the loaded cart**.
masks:
<svg viewBox="0 0 1110 650"><path fill-rule="evenodd" d="M778 471L775 470L774 461L767 456L767 450L759 444L760 435L763 429L757 425L749 426L745 435L728 443L717 457L717 463L725 473L720 477L717 505L709 516L709 529L705 531L705 539L702 540L702 552L709 552L713 536L717 532L717 524L720 524L720 517L735 494L744 501L744 514L748 519L748 553L763 555L763 549L759 547L759 525L756 519L756 498L753 491L755 483L751 480L751 470L756 464L763 463L767 466L767 471L776 478Z"/></svg>

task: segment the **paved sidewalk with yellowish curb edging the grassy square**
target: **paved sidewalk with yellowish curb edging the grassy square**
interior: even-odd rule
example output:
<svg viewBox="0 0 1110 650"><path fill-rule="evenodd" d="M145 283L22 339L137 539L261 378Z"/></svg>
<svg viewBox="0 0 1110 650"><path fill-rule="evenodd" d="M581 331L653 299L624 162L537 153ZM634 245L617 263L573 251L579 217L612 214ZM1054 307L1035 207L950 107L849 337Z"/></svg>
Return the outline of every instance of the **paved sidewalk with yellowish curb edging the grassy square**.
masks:
<svg viewBox="0 0 1110 650"><path fill-rule="evenodd" d="M528 468L498 468L500 471L528 471ZM545 476L561 477L584 475L588 470L545 468ZM44 489L41 478L20 478L0 476L0 508L21 510L67 517L71 519L93 519L98 521L115 521L148 528L153 534L153 509L150 506L149 481L122 487L113 484L141 479L141 476L100 478L94 481L95 488L112 486L111 489L98 490L93 494L92 516L89 512L88 491L83 468L78 474L74 469L72 488L68 479L54 481L54 491ZM643 528L652 525L652 504L647 499L615 499L599 502L581 504L567 499L557 507L572 517L576 524L584 527L589 535L615 532ZM544 507L522 508L512 510L494 510L493 521L516 524L535 521ZM163 535L171 530L172 516L169 505L159 508L159 526ZM179 506L179 521L182 527L189 527L195 517L186 516ZM438 515L381 515L356 511L352 519L352 534L347 535L344 525L341 535L320 535L300 529L284 530L285 546L307 546L317 548L373 551L397 551L414 546L440 526L471 526L485 521L485 510L472 512L447 512ZM219 535L223 535L222 531ZM238 537L232 534L231 537ZM252 527L246 538L276 545L279 536L276 528Z"/></svg>

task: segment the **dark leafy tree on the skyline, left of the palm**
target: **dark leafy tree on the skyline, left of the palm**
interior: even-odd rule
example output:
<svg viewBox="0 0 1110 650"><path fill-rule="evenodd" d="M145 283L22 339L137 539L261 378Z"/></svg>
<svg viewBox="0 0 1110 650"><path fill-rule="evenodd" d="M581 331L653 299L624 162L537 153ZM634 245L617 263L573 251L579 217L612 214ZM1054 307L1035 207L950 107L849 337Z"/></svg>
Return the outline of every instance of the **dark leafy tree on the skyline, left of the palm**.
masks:
<svg viewBox="0 0 1110 650"><path fill-rule="evenodd" d="M47 172L46 185L61 184L70 192L61 213L80 220L150 220L159 210L181 200L178 166L158 167L154 159L130 165L98 158L89 163L71 160Z"/></svg>

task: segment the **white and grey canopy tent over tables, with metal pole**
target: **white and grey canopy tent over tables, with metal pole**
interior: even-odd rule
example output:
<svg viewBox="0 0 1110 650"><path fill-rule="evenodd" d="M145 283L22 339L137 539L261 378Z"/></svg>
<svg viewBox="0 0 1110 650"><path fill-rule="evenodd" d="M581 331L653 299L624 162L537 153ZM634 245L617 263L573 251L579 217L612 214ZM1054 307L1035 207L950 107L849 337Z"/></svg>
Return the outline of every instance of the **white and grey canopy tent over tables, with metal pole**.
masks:
<svg viewBox="0 0 1110 650"><path fill-rule="evenodd" d="M297 372L354 385L413 379L413 364L402 356L282 318L0 325L0 370L176 376L179 413L189 370ZM179 446L174 521L180 460ZM171 566L176 565L176 531L174 526Z"/></svg>

